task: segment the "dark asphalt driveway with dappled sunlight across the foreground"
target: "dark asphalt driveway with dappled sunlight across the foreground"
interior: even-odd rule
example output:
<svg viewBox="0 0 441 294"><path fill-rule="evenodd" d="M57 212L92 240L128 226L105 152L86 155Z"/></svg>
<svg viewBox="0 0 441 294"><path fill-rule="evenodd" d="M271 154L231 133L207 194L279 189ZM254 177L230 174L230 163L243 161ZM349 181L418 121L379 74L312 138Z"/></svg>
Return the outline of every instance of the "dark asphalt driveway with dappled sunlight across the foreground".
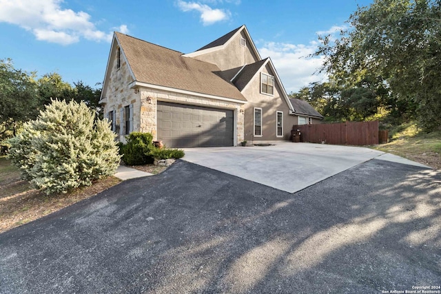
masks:
<svg viewBox="0 0 441 294"><path fill-rule="evenodd" d="M0 234L0 293L438 286L440 205L439 172L384 160L294 194L178 160Z"/></svg>

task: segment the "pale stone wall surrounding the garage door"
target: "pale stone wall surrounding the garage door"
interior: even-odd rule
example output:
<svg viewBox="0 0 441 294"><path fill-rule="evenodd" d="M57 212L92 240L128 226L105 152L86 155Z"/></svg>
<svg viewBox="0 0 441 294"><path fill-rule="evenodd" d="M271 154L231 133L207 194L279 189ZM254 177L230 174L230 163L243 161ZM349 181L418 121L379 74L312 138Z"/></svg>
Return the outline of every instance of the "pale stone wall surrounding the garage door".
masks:
<svg viewBox="0 0 441 294"><path fill-rule="evenodd" d="M243 109L243 104L148 88L140 88L139 92L141 94L141 123L139 127L139 132L149 132L153 135L155 139L157 138L156 105L157 101L159 100L171 103L235 109L235 120L237 126L236 144L240 144L240 142L243 141L244 115L240 112L240 109Z"/></svg>

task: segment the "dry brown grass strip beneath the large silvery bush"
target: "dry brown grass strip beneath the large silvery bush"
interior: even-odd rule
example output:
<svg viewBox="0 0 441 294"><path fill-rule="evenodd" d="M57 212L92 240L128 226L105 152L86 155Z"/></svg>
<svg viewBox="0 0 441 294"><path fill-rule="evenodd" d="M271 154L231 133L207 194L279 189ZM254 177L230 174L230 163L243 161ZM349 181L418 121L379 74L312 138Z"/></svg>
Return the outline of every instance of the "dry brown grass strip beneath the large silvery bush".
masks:
<svg viewBox="0 0 441 294"><path fill-rule="evenodd" d="M95 182L90 187L47 196L42 191L32 189L28 182L21 180L19 169L10 165L10 160L2 156L0 157L0 233L95 196L119 182L121 180L111 176Z"/></svg>

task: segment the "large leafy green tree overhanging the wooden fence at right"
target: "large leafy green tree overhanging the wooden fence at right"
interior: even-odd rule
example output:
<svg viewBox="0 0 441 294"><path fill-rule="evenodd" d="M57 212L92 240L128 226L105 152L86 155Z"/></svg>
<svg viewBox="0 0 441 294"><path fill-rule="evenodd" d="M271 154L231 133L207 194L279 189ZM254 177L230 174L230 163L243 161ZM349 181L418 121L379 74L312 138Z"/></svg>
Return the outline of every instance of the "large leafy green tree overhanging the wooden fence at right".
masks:
<svg viewBox="0 0 441 294"><path fill-rule="evenodd" d="M441 1L376 0L348 22L339 38L320 37L316 52L340 87L342 110L348 98L342 91L349 91L349 98L358 93L349 101L364 100L354 107L362 117L378 103L397 118L416 117L426 130L440 127Z"/></svg>

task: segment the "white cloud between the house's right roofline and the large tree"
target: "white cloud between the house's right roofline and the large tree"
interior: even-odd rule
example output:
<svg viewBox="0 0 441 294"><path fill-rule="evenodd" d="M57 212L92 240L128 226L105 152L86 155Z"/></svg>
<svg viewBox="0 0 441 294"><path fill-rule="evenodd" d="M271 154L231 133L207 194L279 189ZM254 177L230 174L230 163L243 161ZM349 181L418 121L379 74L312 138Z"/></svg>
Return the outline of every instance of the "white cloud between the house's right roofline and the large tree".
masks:
<svg viewBox="0 0 441 294"><path fill-rule="evenodd" d="M315 41L309 45L265 42L258 51L264 58L271 57L285 90L289 93L297 92L309 83L326 79L325 74L317 74L323 64L323 58L308 57L316 52L317 46Z"/></svg>

